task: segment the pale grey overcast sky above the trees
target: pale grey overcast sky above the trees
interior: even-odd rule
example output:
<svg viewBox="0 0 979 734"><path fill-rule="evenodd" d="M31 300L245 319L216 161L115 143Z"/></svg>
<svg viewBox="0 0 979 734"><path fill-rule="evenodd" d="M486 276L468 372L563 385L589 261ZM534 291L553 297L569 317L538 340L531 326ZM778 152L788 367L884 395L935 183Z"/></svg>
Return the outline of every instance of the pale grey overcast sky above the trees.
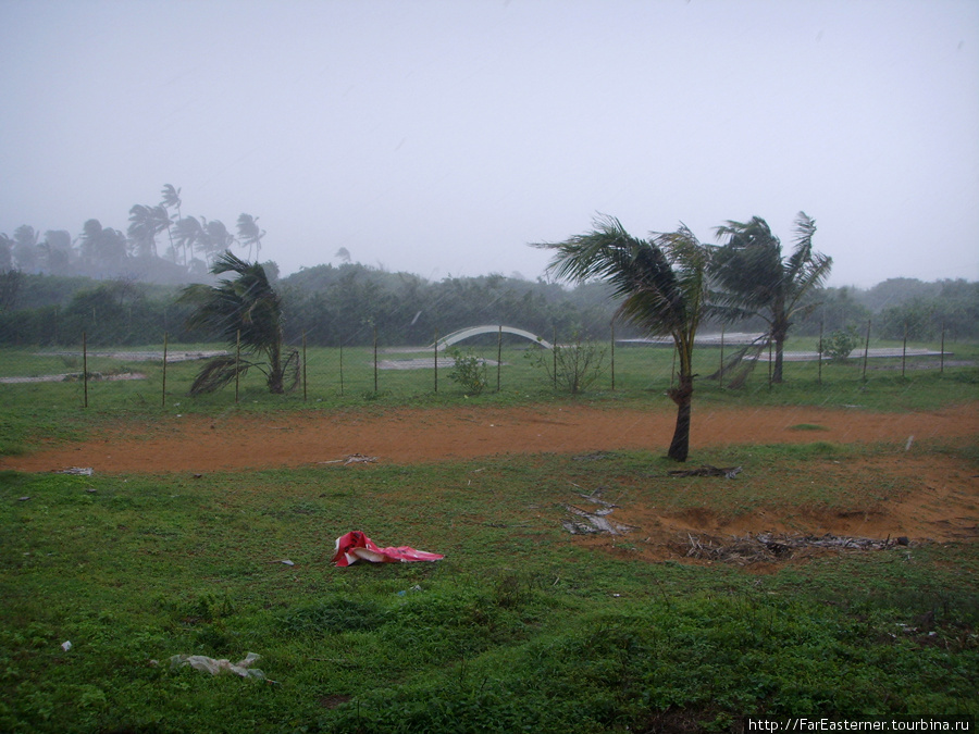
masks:
<svg viewBox="0 0 979 734"><path fill-rule="evenodd" d="M979 279L977 0L0 0L0 232L259 217L284 274L543 274L796 212L830 285ZM786 248L788 249L788 248Z"/></svg>

